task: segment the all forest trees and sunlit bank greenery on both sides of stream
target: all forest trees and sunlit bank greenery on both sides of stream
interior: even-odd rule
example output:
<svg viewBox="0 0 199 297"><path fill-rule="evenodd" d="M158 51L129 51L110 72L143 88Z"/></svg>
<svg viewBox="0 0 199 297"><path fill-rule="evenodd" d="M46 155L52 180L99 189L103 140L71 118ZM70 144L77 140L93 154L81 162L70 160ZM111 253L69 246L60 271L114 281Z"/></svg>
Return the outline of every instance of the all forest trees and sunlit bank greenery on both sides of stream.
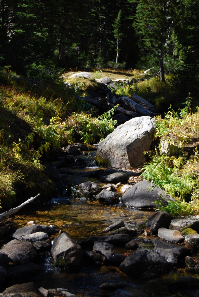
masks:
<svg viewBox="0 0 199 297"><path fill-rule="evenodd" d="M1 1L2 208L38 189L52 194L42 164L54 150L98 142L114 129L114 109L98 114L76 97L99 86L69 79L88 70L93 78L128 78L112 91L136 93L162 114L156 137L170 147L147 153L143 177L176 197L176 214L198 212L198 8L199 0Z"/></svg>

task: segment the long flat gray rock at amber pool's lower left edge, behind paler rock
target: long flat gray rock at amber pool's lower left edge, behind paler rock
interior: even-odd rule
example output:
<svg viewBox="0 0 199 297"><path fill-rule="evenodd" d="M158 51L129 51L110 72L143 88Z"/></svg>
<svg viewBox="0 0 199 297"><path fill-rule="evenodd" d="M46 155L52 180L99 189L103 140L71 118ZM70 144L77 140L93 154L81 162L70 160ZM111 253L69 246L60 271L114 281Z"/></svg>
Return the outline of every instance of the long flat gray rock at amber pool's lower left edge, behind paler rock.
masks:
<svg viewBox="0 0 199 297"><path fill-rule="evenodd" d="M47 233L48 235L52 235L52 234L58 233L59 230L51 226L33 224L33 225L24 226L22 228L17 229L15 233L12 235L12 238L20 240L23 236L28 234L33 234L36 232L44 232L44 233Z"/></svg>

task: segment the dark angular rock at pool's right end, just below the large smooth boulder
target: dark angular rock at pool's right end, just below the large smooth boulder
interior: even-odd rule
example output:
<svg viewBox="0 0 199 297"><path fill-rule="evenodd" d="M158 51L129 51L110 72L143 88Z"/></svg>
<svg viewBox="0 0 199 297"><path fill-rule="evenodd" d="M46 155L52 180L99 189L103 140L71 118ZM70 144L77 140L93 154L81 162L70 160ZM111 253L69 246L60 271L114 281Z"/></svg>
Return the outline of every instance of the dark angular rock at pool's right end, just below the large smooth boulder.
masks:
<svg viewBox="0 0 199 297"><path fill-rule="evenodd" d="M158 234L159 228L169 228L173 218L174 217L171 214L168 214L168 212L159 210L147 220L145 227L152 235Z"/></svg>

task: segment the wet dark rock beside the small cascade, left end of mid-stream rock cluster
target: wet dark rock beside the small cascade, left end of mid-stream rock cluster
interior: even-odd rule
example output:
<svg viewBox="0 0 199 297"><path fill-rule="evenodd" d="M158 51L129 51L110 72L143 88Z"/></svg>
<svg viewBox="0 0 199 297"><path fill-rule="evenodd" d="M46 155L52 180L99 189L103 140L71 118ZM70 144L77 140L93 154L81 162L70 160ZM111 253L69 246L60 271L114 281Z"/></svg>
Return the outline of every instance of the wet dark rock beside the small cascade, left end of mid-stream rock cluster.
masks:
<svg viewBox="0 0 199 297"><path fill-rule="evenodd" d="M85 181L78 185L79 198L93 199L100 192L98 185L92 181Z"/></svg>

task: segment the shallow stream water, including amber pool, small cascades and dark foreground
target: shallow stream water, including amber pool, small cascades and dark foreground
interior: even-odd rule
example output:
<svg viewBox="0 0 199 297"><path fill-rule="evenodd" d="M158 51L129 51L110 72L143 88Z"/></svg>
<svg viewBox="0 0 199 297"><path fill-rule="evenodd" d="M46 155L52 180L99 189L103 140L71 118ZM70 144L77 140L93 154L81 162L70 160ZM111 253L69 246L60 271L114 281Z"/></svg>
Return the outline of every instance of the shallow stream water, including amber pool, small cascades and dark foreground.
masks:
<svg viewBox="0 0 199 297"><path fill-rule="evenodd" d="M94 158L92 153L91 156ZM139 224L144 223L154 214L153 211L127 208L121 204L107 206L98 201L68 197L66 185L69 181L70 184L94 181L102 185L101 181L96 178L88 177L87 173L90 174L99 169L93 161L91 162L88 158L88 163L81 163L81 167L77 167L81 161L76 157L71 157L71 159L74 159L74 162L71 161L70 167L59 168L60 174L65 175L65 183L62 184L62 187L57 188L56 197L48 203L32 203L18 211L12 216L12 221L17 228L34 220L37 224L56 225L63 232L68 232L71 238L80 242L89 236L98 235L100 231L119 220L124 221L126 228L137 229ZM143 241L143 236L137 236L134 239L139 245L138 249L153 249L153 244L147 242L153 237L145 237L145 241ZM126 249L117 248L115 251L122 254L126 252ZM140 280L123 274L117 266L84 265L84 263L76 272L63 271L54 267L48 252L41 254L40 262L43 271L32 277L31 281L35 282L38 287L46 289L67 288L70 293L76 294L78 297L179 296L169 292L169 284L177 281L180 276L198 277L187 269L176 268L170 274L163 275L158 279ZM23 282L25 281L23 280ZM121 283L123 287L115 291L100 290L99 286L105 282ZM188 297L189 295L180 296Z"/></svg>

